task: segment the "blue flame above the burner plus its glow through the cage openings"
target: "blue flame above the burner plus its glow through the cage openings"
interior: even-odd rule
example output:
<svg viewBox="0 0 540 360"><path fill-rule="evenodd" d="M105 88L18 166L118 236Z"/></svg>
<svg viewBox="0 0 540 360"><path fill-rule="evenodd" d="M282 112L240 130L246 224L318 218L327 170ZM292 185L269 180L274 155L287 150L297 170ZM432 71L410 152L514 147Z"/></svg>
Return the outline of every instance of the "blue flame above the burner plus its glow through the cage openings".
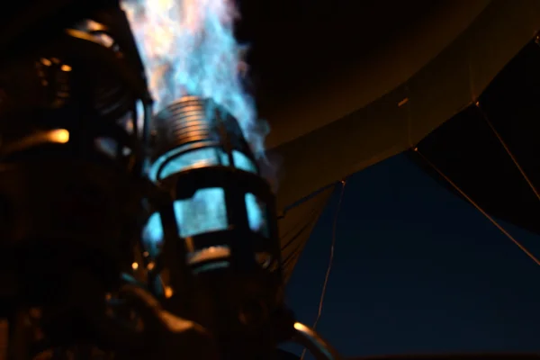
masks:
<svg viewBox="0 0 540 360"><path fill-rule="evenodd" d="M237 10L229 0L124 0L139 52L147 68L155 111L184 95L211 98L234 116L257 158L265 159L264 141L268 132L265 121L257 119L254 99L242 86L239 72L244 47L233 34ZM241 155L241 154L240 154ZM198 154L207 162L207 154ZM235 166L245 171L254 167L235 158ZM173 162L166 173L181 171L185 162ZM223 164L222 159L217 164ZM193 165L193 164L192 164ZM164 169L165 170L165 169ZM166 175L166 174L164 174ZM175 217L181 237L204 231L226 229L226 208L222 189L203 189L192 199L176 201ZM251 229L263 226L264 214L253 194L246 195L247 217ZM157 252L163 239L157 213L148 220L145 234L149 250Z"/></svg>

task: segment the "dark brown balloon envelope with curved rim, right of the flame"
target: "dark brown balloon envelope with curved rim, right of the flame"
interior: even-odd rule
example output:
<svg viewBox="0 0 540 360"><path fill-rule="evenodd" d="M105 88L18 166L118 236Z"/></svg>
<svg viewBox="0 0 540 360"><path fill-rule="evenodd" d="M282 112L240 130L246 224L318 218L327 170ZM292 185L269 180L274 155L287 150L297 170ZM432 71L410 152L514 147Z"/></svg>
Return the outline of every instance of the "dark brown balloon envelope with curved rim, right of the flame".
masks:
<svg viewBox="0 0 540 360"><path fill-rule="evenodd" d="M246 1L240 11L282 211L415 146L540 29L535 0ZM281 220L285 276L329 193Z"/></svg>

